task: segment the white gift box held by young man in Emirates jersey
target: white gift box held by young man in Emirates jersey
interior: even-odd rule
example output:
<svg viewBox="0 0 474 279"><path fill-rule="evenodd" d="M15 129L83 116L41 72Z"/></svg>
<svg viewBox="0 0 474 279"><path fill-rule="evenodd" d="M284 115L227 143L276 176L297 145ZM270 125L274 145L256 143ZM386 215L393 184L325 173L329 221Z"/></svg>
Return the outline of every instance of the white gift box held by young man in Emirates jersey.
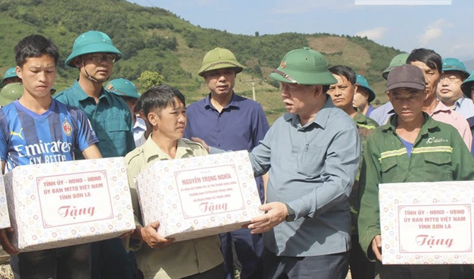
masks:
<svg viewBox="0 0 474 279"><path fill-rule="evenodd" d="M20 252L114 238L135 228L123 157L17 166L4 175Z"/></svg>

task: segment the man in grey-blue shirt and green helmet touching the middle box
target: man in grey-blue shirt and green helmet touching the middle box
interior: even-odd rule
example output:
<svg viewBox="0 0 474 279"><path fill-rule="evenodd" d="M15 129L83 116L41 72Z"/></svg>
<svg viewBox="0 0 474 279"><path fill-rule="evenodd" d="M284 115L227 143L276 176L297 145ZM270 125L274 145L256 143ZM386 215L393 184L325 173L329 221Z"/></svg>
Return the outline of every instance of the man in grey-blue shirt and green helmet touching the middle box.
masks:
<svg viewBox="0 0 474 279"><path fill-rule="evenodd" d="M326 94L337 80L321 53L288 52L270 77L280 81L287 113L250 153L255 176L269 171L260 206L266 213L248 226L263 234L263 278L344 279L348 199L360 157L356 125Z"/></svg>

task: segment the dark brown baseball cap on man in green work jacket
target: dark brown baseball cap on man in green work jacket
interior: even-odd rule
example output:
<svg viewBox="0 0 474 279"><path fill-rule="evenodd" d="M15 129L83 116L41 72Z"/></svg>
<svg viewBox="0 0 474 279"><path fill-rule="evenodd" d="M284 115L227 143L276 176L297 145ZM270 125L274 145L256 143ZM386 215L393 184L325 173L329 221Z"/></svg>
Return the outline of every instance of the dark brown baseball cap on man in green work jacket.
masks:
<svg viewBox="0 0 474 279"><path fill-rule="evenodd" d="M393 68L388 74L385 91L401 87L425 90L425 76L421 69L410 64Z"/></svg>

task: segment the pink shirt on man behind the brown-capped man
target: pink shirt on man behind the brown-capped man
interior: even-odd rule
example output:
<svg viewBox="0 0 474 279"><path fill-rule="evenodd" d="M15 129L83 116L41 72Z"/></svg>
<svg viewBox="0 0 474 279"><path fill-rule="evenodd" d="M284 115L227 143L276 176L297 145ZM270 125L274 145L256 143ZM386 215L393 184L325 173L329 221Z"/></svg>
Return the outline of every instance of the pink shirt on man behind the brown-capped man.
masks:
<svg viewBox="0 0 474 279"><path fill-rule="evenodd" d="M451 110L445 104L438 101L438 105L436 106L435 110L433 111L433 113L431 113L430 116L434 120L451 124L452 126L454 126L454 128L456 128L457 131L459 131L459 134L461 134L461 137L466 143L469 151L471 151L471 144L473 141L471 128L469 128L469 124L460 113L457 113Z"/></svg>

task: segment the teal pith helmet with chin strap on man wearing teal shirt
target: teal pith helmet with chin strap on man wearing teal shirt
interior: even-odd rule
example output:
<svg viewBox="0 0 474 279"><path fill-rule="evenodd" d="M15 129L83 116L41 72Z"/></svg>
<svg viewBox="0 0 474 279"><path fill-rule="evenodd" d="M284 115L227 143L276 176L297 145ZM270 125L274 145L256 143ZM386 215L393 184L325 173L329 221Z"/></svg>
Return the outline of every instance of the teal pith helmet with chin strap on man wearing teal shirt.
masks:
<svg viewBox="0 0 474 279"><path fill-rule="evenodd" d="M109 35L95 30L89 30L79 35L73 44L73 52L64 61L64 65L75 67L73 59L83 54L94 53L94 52L108 52L117 54L118 61L122 58L122 52L112 43Z"/></svg>

